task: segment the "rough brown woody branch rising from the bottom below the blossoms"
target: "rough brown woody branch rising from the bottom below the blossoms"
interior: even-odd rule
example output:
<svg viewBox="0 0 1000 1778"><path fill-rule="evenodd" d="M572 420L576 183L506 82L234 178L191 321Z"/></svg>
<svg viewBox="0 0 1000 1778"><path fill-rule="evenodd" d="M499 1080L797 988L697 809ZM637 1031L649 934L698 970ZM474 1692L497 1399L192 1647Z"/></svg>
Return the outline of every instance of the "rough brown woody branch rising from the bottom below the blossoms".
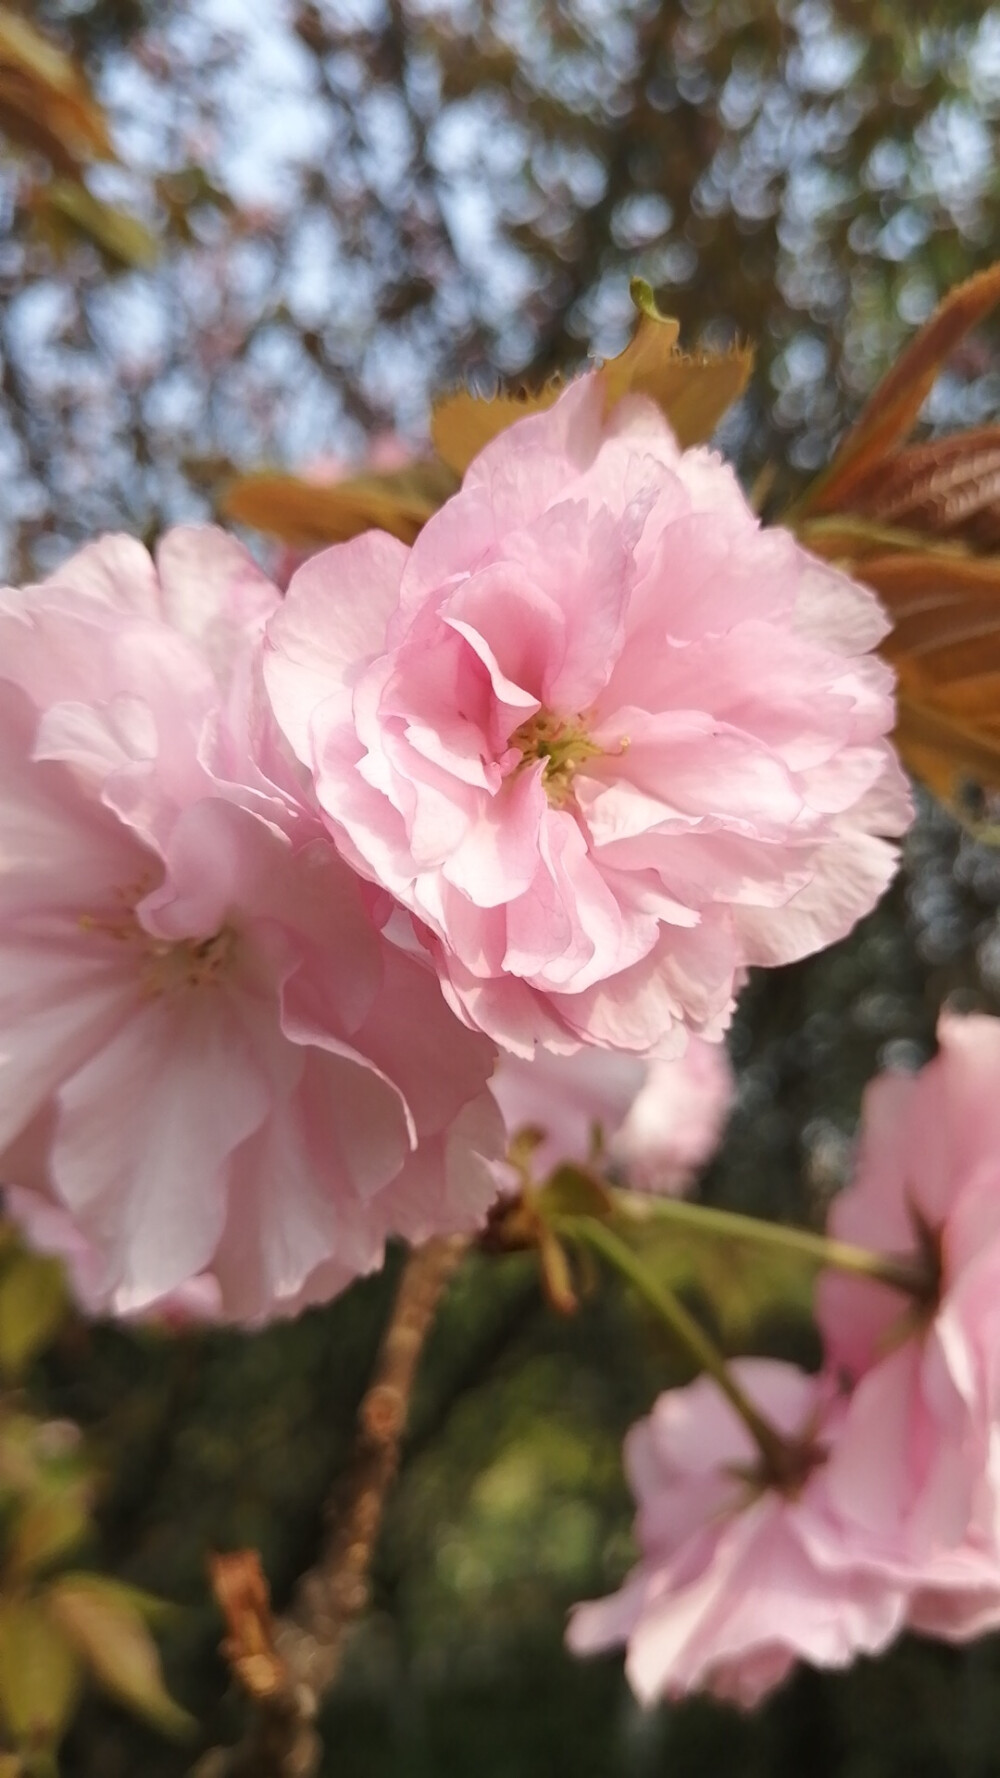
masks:
<svg viewBox="0 0 1000 1778"><path fill-rule="evenodd" d="M327 1502L327 1533L286 1616L270 1618L267 1582L253 1550L215 1558L212 1581L226 1614L230 1666L256 1705L238 1748L214 1748L192 1778L315 1778L315 1718L340 1668L345 1632L368 1604L368 1570L395 1472L420 1353L468 1239L429 1241L402 1269L345 1486Z"/></svg>

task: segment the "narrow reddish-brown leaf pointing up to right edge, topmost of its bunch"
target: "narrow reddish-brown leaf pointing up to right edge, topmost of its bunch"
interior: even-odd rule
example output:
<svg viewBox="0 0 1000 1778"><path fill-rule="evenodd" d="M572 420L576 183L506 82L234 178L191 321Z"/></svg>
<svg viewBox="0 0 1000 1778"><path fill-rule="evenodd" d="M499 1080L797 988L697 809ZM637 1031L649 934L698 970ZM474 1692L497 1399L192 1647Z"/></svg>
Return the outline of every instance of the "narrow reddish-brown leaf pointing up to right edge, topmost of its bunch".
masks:
<svg viewBox="0 0 1000 1778"><path fill-rule="evenodd" d="M808 489L801 510L852 509L872 473L907 437L938 373L959 340L1000 302L1000 263L954 290L879 382L829 468Z"/></svg>

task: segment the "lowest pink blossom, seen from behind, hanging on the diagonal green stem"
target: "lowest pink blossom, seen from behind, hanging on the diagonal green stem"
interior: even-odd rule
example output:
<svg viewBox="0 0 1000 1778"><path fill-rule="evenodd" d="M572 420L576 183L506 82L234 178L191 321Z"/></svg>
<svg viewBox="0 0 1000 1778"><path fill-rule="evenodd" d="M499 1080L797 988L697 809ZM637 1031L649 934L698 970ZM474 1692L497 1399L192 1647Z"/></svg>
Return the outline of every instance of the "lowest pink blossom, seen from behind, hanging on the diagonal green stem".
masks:
<svg viewBox="0 0 1000 1778"><path fill-rule="evenodd" d="M744 1358L733 1374L786 1438L811 1451L786 1490L758 1476L751 1435L717 1385L669 1390L626 1438L639 1563L619 1593L577 1606L577 1654L628 1645L642 1703L712 1691L751 1707L797 1661L843 1668L900 1630L906 1591L868 1565L824 1488L842 1403L829 1376Z"/></svg>

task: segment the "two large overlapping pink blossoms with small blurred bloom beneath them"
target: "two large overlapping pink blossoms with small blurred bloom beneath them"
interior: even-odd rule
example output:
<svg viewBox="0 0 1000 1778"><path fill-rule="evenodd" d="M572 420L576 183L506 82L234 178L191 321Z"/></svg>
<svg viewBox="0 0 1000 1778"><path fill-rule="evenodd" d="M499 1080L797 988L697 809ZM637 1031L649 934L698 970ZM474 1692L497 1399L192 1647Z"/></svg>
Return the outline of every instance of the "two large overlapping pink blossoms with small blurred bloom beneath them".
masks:
<svg viewBox="0 0 1000 1778"><path fill-rule="evenodd" d="M609 1154L676 1189L719 1093L660 1061L895 868L883 629L594 375L286 597L214 528L7 590L9 1207L93 1309L290 1312L482 1221L496 1045L617 1051Z"/></svg>

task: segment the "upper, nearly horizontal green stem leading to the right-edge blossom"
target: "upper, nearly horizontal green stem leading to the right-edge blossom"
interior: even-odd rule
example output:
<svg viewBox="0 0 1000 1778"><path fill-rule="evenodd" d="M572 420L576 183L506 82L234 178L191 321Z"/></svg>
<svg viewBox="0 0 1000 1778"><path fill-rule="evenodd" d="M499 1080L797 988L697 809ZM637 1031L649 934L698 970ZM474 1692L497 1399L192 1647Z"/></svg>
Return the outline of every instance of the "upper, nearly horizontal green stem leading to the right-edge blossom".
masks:
<svg viewBox="0 0 1000 1778"><path fill-rule="evenodd" d="M762 1216L742 1216L740 1211L722 1211L714 1204L689 1204L685 1198L653 1197L637 1191L607 1188L617 1209L632 1221L667 1221L692 1234L715 1236L719 1241L753 1241L758 1246L781 1248L797 1253L815 1266L835 1271L852 1271L856 1277L890 1284L909 1296L927 1296L934 1280L918 1257L877 1253L851 1241L833 1241L813 1229L794 1229L790 1223L765 1221Z"/></svg>

